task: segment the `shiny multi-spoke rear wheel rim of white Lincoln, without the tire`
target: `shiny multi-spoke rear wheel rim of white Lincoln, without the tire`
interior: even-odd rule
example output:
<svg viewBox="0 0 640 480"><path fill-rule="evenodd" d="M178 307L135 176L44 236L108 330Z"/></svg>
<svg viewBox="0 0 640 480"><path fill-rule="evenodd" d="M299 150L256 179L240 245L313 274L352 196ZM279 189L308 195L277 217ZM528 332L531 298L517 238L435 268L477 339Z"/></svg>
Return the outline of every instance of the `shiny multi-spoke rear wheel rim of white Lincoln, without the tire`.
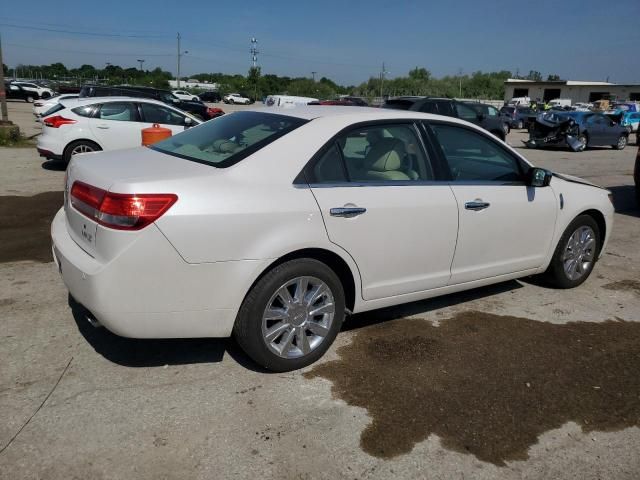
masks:
<svg viewBox="0 0 640 480"><path fill-rule="evenodd" d="M316 277L297 277L271 296L262 315L262 338L281 358L303 357L322 344L331 330L335 300Z"/></svg>

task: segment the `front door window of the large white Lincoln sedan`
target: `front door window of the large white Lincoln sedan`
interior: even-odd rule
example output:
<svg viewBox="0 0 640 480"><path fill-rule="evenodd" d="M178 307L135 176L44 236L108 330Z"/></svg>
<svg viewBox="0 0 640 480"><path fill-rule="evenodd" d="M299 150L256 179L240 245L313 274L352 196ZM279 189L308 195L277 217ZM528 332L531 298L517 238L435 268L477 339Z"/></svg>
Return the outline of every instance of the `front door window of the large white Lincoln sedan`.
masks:
<svg viewBox="0 0 640 480"><path fill-rule="evenodd" d="M431 126L453 181L520 182L520 162L493 139L454 125Z"/></svg>

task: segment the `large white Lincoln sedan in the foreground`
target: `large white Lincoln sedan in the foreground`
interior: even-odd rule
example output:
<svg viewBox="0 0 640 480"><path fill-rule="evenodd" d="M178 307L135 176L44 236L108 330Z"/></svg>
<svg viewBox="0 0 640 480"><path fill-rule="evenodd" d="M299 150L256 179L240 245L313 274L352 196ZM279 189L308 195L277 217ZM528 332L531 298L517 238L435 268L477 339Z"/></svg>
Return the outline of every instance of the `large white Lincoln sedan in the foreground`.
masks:
<svg viewBox="0 0 640 480"><path fill-rule="evenodd" d="M534 274L580 285L614 212L607 190L464 121L326 106L78 156L65 192L54 258L93 319L234 335L276 371L319 359L349 313Z"/></svg>

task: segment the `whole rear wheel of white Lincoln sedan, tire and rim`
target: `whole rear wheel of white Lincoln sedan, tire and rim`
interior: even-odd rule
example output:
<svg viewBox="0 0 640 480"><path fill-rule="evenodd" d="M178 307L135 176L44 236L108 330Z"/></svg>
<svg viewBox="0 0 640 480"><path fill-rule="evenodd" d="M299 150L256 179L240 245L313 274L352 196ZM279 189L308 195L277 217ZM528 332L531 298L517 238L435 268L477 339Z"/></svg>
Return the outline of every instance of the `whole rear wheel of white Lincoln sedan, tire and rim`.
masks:
<svg viewBox="0 0 640 480"><path fill-rule="evenodd" d="M312 364L329 349L344 320L340 279L311 258L285 262L249 291L233 335L257 364L275 372Z"/></svg>

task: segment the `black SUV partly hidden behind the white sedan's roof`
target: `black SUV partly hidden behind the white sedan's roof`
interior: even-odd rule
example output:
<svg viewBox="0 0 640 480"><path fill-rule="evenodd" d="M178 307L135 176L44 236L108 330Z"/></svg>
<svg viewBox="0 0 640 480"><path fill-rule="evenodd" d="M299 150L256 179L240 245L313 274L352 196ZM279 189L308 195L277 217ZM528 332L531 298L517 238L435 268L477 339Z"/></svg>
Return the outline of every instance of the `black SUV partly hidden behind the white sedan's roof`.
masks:
<svg viewBox="0 0 640 480"><path fill-rule="evenodd" d="M505 128L505 122L501 116L485 115L467 103L450 98L396 97L388 99L382 105L382 108L412 110L460 118L479 125L503 141L508 132L508 128Z"/></svg>

